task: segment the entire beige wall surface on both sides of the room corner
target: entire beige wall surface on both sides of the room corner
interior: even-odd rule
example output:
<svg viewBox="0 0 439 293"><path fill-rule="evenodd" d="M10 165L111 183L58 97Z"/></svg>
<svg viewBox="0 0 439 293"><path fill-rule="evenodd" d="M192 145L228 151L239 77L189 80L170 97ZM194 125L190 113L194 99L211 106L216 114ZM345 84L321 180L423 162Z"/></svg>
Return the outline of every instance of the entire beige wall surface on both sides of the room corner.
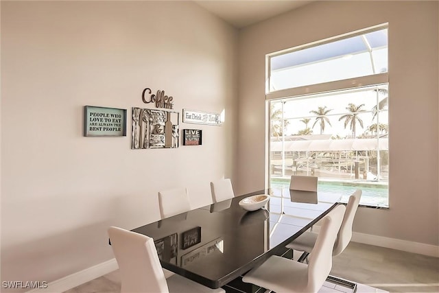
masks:
<svg viewBox="0 0 439 293"><path fill-rule="evenodd" d="M391 207L360 209L355 231L438 245L437 2L311 3L241 30L238 44L189 2L1 1L2 281L54 281L112 258L106 228L157 220L160 189L185 185L198 206L221 176L237 194L262 189L265 54L384 22ZM225 108L226 123L180 124L204 137L178 150L130 150L130 120L127 137L82 137L84 105L129 114L150 107L147 86L178 111Z"/></svg>

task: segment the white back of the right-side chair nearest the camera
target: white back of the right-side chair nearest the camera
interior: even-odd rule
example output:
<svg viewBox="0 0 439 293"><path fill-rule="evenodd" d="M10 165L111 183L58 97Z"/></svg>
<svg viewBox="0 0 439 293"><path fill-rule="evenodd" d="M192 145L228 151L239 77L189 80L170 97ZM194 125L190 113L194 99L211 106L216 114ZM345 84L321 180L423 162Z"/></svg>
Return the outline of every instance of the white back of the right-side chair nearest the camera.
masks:
<svg viewBox="0 0 439 293"><path fill-rule="evenodd" d="M307 287L309 292L318 292L331 272L332 250L342 225L344 211L346 207L340 204L322 219L322 228L309 255Z"/></svg>

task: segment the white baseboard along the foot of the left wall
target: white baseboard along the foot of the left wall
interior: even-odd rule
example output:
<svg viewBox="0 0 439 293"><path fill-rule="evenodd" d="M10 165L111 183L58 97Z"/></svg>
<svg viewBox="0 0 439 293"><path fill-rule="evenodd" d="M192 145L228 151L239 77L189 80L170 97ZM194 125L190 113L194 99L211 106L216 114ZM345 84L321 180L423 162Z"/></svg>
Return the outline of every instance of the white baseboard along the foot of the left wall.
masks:
<svg viewBox="0 0 439 293"><path fill-rule="evenodd" d="M38 288L28 291L27 293L61 293L99 278L104 274L117 270L118 268L116 259L110 259L109 261L99 263L96 266L86 268L80 272L75 272L67 277L50 282L47 284L47 288Z"/></svg>

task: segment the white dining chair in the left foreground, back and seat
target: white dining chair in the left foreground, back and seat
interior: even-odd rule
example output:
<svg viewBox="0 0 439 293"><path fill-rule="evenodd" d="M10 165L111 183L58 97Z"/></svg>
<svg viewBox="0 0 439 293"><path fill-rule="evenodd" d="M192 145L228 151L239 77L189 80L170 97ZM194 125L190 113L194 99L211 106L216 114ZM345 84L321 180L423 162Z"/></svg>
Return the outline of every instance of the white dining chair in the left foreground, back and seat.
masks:
<svg viewBox="0 0 439 293"><path fill-rule="evenodd" d="M123 228L108 228L110 243L121 274L121 293L225 292L211 289L178 274L165 278L154 239Z"/></svg>

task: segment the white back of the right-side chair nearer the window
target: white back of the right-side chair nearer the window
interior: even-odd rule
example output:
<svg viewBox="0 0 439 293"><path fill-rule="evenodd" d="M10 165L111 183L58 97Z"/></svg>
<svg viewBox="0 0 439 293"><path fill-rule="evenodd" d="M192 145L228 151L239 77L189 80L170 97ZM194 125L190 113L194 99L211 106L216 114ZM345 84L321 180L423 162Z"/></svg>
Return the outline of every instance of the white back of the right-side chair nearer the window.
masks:
<svg viewBox="0 0 439 293"><path fill-rule="evenodd" d="M332 255L340 255L344 248L348 246L352 238L352 225L355 218L355 213L357 213L359 200L361 198L361 189L357 189L348 200L348 205L346 206L346 212L344 213L342 226L338 232L337 239L335 240L335 245Z"/></svg>

